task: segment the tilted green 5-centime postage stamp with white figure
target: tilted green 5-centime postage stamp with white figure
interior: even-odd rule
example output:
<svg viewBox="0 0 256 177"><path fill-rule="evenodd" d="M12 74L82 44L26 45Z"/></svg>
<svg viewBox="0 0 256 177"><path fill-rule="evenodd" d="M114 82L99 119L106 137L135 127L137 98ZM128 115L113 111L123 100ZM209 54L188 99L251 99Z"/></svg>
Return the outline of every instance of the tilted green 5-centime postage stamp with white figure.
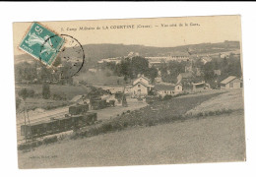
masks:
<svg viewBox="0 0 256 177"><path fill-rule="evenodd" d="M19 47L45 65L51 66L63 43L64 38L33 23Z"/></svg>

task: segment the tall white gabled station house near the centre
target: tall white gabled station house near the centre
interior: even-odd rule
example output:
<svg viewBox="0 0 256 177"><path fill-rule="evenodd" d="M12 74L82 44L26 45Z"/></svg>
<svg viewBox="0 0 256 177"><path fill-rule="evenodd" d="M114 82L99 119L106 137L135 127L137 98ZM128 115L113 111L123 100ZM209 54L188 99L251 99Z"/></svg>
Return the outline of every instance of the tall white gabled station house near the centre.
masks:
<svg viewBox="0 0 256 177"><path fill-rule="evenodd" d="M126 87L125 92L129 93L131 97L140 97L148 95L153 88L150 79L142 75L133 81L132 86Z"/></svg>

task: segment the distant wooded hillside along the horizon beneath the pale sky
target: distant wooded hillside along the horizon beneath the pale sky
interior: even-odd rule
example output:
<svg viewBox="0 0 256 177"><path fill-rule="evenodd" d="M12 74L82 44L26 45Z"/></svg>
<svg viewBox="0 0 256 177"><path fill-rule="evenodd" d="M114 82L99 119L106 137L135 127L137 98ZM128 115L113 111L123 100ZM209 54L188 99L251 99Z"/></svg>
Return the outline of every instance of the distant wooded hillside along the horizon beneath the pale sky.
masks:
<svg viewBox="0 0 256 177"><path fill-rule="evenodd" d="M87 44L83 45L87 59L96 62L102 58L112 58L127 56L129 52L138 52L141 56L164 56L168 53L187 52L189 48L192 54L209 54L233 51L240 48L239 41L224 41L220 43L200 43L191 45L182 45L176 47L154 47L145 45L124 45L124 44ZM70 52L74 52L68 48ZM23 61L32 61L32 56L29 54L22 54L15 56L15 63Z"/></svg>

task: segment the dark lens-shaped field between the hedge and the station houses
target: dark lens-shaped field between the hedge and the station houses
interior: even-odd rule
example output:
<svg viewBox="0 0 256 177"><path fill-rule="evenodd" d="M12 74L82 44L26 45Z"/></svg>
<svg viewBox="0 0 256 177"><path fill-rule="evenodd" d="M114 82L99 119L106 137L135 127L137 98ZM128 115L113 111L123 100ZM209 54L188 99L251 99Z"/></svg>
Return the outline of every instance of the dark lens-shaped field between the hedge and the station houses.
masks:
<svg viewBox="0 0 256 177"><path fill-rule="evenodd" d="M127 124L128 127L136 125L153 126L160 123L169 123L180 119L188 110L220 94L222 94L222 92L212 92L211 94L199 94L190 97L181 96L154 102L140 110L122 114L111 120L111 122Z"/></svg>

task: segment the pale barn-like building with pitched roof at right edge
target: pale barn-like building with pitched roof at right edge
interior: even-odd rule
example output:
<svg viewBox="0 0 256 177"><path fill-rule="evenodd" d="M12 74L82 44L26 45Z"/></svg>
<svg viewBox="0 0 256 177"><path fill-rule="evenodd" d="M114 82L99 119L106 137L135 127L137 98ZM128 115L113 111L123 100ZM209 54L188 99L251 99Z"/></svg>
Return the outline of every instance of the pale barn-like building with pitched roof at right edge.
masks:
<svg viewBox="0 0 256 177"><path fill-rule="evenodd" d="M242 80L235 76L229 76L221 82L221 89L238 89L242 88Z"/></svg>

